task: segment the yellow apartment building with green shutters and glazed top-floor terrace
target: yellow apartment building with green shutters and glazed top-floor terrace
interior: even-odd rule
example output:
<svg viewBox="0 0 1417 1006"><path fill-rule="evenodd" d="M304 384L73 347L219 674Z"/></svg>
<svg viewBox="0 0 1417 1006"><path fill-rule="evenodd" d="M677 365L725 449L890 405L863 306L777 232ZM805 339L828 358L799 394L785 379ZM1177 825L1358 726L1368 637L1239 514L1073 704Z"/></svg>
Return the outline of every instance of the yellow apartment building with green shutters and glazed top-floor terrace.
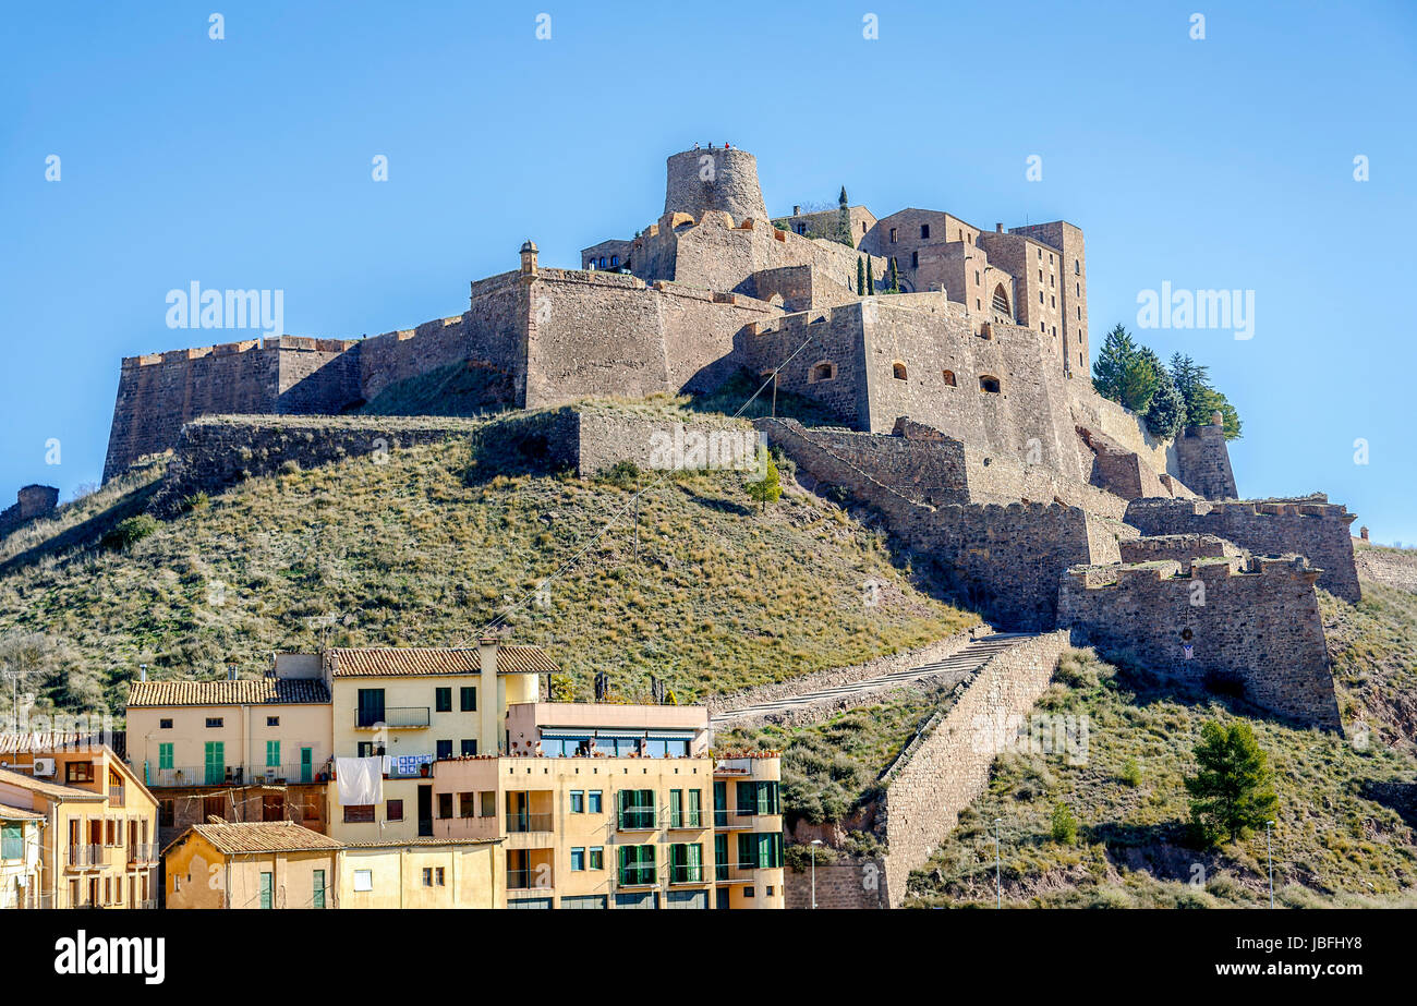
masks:
<svg viewBox="0 0 1417 1006"><path fill-rule="evenodd" d="M716 761L703 707L527 703L507 737L432 769L436 836L503 836L507 908L784 907L779 761Z"/></svg>

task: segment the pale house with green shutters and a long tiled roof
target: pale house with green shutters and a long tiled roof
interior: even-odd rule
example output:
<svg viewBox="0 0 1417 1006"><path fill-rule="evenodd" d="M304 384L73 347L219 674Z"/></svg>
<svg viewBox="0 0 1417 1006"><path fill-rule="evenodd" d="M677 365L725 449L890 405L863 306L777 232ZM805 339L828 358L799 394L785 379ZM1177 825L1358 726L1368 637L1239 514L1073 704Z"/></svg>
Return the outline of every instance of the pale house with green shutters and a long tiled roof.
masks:
<svg viewBox="0 0 1417 1006"><path fill-rule="evenodd" d="M329 686L305 655L256 679L129 686L128 755L157 796L164 843L213 816L326 830L330 737Z"/></svg>

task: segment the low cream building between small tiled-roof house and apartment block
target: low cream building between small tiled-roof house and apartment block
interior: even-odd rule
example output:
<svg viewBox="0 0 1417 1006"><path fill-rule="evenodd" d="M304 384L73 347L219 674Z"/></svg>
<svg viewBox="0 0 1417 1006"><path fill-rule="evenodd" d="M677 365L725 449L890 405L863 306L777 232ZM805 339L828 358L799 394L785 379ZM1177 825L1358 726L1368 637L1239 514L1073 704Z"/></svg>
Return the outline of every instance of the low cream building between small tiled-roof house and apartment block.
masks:
<svg viewBox="0 0 1417 1006"><path fill-rule="evenodd" d="M340 908L502 908L497 839L347 844Z"/></svg>

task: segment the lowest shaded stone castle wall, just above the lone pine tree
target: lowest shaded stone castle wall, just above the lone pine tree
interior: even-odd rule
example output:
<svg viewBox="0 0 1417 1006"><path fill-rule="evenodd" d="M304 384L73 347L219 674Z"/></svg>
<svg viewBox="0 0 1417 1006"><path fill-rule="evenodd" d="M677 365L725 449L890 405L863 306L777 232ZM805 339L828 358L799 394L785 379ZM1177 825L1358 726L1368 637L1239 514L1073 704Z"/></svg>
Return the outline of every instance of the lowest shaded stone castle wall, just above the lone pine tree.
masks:
<svg viewBox="0 0 1417 1006"><path fill-rule="evenodd" d="M1197 686L1231 682L1274 713L1340 730L1318 571L1295 557L1176 561L1115 570L1073 570L1058 589L1058 623L1077 645L1125 652L1148 670ZM1192 656L1186 656L1190 632Z"/></svg>

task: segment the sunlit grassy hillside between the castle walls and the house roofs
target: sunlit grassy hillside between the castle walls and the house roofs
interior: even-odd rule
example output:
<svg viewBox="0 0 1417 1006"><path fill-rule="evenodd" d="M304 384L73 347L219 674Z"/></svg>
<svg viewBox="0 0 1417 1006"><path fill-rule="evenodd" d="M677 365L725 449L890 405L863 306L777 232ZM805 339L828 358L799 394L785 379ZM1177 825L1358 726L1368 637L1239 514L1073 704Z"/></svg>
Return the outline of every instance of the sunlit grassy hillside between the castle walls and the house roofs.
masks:
<svg viewBox="0 0 1417 1006"><path fill-rule="evenodd" d="M735 475L665 482L640 500L636 563L628 507L645 476L490 476L472 452L451 442L256 479L126 548L102 536L150 485L103 490L84 504L92 513L51 529L62 537L35 529L0 565L0 660L44 633L45 673L26 687L92 708L120 703L139 663L159 679L228 662L254 674L271 650L322 639L470 643L582 550L544 606L507 619L582 696L604 669L623 697L646 696L653 673L684 701L978 621L914 589L879 534L812 497L788 493L760 514ZM869 580L883 584L876 606L863 604Z"/></svg>

